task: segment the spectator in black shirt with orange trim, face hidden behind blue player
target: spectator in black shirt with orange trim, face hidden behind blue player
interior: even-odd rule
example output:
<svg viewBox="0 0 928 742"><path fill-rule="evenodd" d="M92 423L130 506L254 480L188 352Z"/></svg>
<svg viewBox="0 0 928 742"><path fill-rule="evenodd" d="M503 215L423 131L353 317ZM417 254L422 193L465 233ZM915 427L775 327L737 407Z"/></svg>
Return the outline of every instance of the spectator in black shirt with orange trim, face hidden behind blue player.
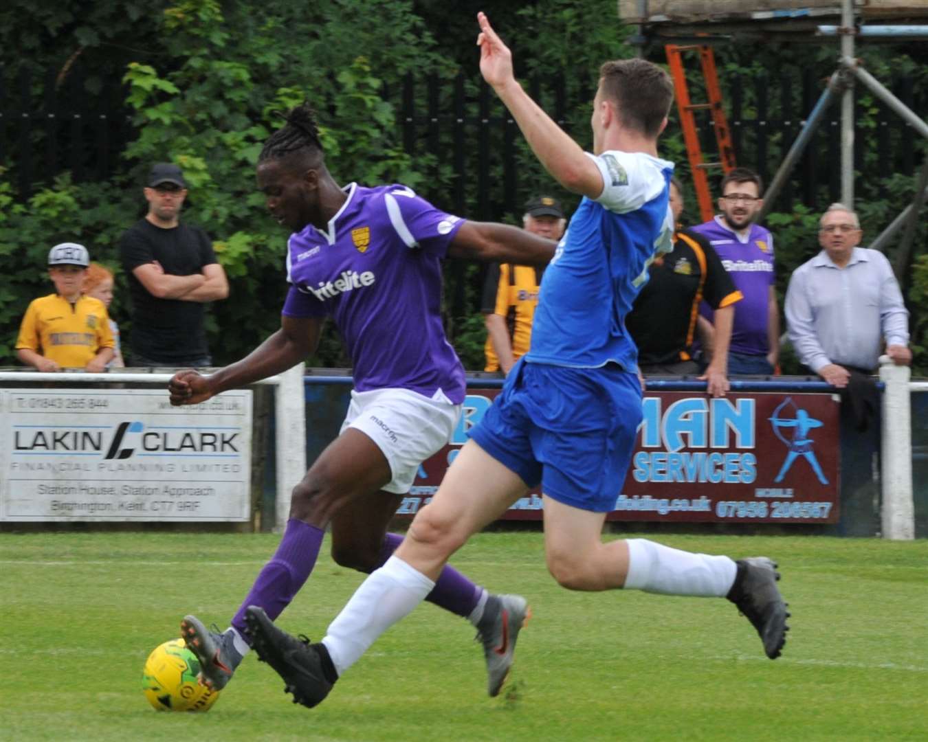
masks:
<svg viewBox="0 0 928 742"><path fill-rule="evenodd" d="M693 336L700 301L707 301L715 310L715 353L700 378L721 397L728 391L728 339L741 291L706 238L679 226L683 190L677 178L670 181L670 209L677 224L674 249L651 263L625 328L638 346L642 374L696 375L701 369L693 360Z"/></svg>

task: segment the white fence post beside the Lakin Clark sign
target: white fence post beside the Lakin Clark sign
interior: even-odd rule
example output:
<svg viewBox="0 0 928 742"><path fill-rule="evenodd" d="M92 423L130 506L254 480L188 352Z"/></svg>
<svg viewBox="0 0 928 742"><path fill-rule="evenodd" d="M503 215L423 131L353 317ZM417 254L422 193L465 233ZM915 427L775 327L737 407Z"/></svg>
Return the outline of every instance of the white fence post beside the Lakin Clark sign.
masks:
<svg viewBox="0 0 928 742"><path fill-rule="evenodd" d="M306 415L303 364L280 375L275 388L277 449L276 531L283 531L290 518L290 491L306 473Z"/></svg>

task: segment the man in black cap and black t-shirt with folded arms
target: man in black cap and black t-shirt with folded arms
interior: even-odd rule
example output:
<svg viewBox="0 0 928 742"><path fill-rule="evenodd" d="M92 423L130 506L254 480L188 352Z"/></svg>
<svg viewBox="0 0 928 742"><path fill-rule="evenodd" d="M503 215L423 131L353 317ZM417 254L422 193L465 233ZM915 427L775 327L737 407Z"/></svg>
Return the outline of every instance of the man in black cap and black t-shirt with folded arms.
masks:
<svg viewBox="0 0 928 742"><path fill-rule="evenodd" d="M120 239L134 306L130 363L211 365L203 303L228 296L226 272L216 262L210 238L180 224L187 184L177 165L158 162L152 167L145 198L148 213Z"/></svg>

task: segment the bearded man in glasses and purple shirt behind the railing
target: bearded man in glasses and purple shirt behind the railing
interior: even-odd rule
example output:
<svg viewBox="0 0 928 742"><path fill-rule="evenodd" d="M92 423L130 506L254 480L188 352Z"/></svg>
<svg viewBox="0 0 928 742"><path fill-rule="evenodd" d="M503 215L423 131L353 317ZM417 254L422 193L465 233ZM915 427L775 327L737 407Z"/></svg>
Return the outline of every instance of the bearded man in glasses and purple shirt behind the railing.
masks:
<svg viewBox="0 0 928 742"><path fill-rule="evenodd" d="M715 248L742 300L735 308L728 373L772 374L780 357L780 311L773 276L773 236L754 217L764 203L760 176L735 168L722 178L720 214L693 227ZM713 313L703 302L700 313L710 322ZM708 329L710 345L715 342Z"/></svg>

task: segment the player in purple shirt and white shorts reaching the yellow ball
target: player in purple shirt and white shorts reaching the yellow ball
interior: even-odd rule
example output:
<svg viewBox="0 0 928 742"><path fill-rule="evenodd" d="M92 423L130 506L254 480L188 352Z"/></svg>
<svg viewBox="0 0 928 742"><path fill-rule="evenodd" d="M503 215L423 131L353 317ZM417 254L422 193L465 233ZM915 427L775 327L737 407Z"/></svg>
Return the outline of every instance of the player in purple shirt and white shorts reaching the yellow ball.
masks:
<svg viewBox="0 0 928 742"><path fill-rule="evenodd" d="M546 264L555 243L505 224L470 222L436 209L405 185L341 187L325 164L312 109L290 110L264 145L258 186L288 226L281 326L238 363L209 375L181 371L171 403L196 404L285 371L316 350L331 316L354 365L354 390L339 437L293 489L290 519L224 633L195 616L182 636L200 659L200 681L224 687L249 651L244 611L276 619L309 577L331 526L332 557L370 572L402 538L387 525L419 464L450 439L465 395L464 368L445 339L441 259ZM519 595L492 595L446 567L429 599L477 628L495 695L528 613Z"/></svg>

